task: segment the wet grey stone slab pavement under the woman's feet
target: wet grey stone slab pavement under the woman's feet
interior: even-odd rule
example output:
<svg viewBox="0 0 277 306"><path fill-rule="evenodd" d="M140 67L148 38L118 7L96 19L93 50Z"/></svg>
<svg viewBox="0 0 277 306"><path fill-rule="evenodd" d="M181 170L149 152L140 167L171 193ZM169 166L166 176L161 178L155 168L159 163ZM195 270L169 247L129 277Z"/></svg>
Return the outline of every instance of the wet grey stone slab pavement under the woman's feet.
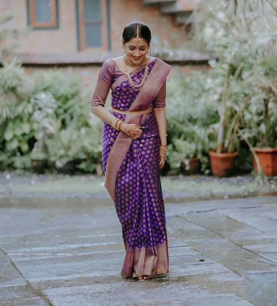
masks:
<svg viewBox="0 0 277 306"><path fill-rule="evenodd" d="M277 197L166 201L170 273L120 277L108 198L0 199L0 306L276 306Z"/></svg>

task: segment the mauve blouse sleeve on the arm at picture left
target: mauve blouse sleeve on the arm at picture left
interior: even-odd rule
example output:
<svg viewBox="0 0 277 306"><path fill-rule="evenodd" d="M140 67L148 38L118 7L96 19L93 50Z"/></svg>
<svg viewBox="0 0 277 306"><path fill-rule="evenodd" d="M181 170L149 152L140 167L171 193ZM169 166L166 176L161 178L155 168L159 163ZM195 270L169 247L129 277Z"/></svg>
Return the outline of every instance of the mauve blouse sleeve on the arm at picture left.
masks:
<svg viewBox="0 0 277 306"><path fill-rule="evenodd" d="M105 106L108 93L112 85L113 73L110 60L103 63L99 72L97 84L92 96L92 106Z"/></svg>

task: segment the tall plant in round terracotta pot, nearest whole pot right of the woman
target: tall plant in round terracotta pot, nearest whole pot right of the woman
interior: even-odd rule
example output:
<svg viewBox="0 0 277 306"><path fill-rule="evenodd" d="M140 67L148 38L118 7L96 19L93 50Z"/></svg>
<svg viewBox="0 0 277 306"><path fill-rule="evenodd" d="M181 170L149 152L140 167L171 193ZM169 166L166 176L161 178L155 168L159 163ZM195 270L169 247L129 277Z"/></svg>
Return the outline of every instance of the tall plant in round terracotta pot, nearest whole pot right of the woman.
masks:
<svg viewBox="0 0 277 306"><path fill-rule="evenodd" d="M231 173L237 155L235 144L239 144L240 129L243 128L243 111L257 83L254 78L252 84L248 82L251 71L255 65L258 66L263 72L258 83L264 83L266 69L260 63L265 64L272 59L275 62L276 8L268 0L251 0L249 3L203 1L191 19L194 33L192 43L213 50L218 58L209 76L215 71L214 68L220 68L219 65L222 68L221 78L224 80L221 80L221 85L215 78L210 81L213 88L219 85L221 89L217 93L220 97L220 120L215 129L217 149L210 151L209 155L213 174L226 176ZM275 68L271 71L275 71Z"/></svg>

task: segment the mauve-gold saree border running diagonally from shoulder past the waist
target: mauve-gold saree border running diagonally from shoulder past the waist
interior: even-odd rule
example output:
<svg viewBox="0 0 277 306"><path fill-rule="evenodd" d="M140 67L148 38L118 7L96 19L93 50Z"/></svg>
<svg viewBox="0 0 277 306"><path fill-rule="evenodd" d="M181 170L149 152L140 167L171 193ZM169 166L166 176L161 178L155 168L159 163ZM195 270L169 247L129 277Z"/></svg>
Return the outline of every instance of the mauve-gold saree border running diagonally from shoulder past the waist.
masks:
<svg viewBox="0 0 277 306"><path fill-rule="evenodd" d="M135 101L129 107L128 111L141 111L147 109L156 95L163 86L171 66L158 58L155 66L149 74L147 81L138 93ZM135 123L140 125L143 120L143 115L126 115L124 122ZM105 187L114 201L116 175L122 162L130 148L132 138L126 136L123 132L119 132L107 160Z"/></svg>

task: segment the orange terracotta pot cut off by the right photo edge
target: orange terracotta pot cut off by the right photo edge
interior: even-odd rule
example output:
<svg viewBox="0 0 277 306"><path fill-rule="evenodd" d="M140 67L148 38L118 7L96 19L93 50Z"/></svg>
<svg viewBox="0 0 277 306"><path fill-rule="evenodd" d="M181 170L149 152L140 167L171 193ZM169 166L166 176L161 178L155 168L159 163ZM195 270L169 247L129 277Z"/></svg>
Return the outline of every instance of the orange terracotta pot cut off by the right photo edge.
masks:
<svg viewBox="0 0 277 306"><path fill-rule="evenodd" d="M261 167L267 176L277 175L277 148L253 148L250 151L257 154ZM255 157L253 163L255 171L257 172Z"/></svg>

